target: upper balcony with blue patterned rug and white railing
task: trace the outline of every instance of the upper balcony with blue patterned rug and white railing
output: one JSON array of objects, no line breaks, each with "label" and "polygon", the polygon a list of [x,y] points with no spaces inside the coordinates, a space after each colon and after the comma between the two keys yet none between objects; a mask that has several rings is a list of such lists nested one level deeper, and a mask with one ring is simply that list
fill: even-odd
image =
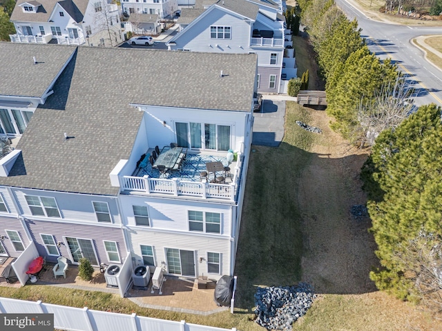
[{"label": "upper balcony with blue patterned rug and white railing", "polygon": [[[204,171],[205,161],[222,161],[229,166],[230,175],[225,176],[224,183],[213,183],[214,175],[200,177]],[[123,194],[148,194],[169,197],[185,197],[187,199],[221,199],[222,201],[236,201],[238,188],[241,182],[243,157],[238,153],[236,161],[227,162],[225,157],[213,155],[188,154],[181,170],[160,174],[157,169],[148,163],[146,168],[137,168],[131,176],[118,176],[119,188]],[[221,174],[221,173],[219,173]],[[213,177],[213,178],[212,178]]]}]

